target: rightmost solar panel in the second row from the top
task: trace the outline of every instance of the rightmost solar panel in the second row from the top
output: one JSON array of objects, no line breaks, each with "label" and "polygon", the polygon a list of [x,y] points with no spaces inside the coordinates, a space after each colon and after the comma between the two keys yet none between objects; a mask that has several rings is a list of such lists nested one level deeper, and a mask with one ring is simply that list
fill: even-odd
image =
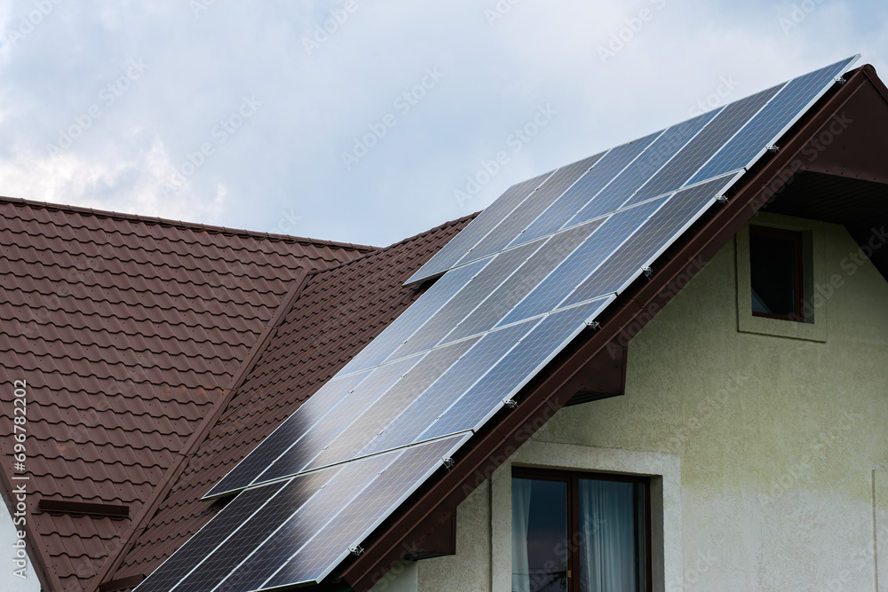
[{"label": "rightmost solar panel in the second row from the top", "polygon": [[614,255],[567,298],[565,305],[613,294],[641,274],[641,268],[668,248],[687,226],[715,203],[715,197],[736,175],[729,174],[674,193],[669,201],[632,235]]}]

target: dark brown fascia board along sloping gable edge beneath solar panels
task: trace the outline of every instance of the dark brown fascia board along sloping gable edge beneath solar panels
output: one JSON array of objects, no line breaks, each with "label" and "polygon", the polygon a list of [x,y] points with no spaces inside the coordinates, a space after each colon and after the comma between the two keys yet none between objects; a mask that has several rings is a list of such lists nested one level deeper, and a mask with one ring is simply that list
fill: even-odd
[{"label": "dark brown fascia board along sloping gable edge beneath solar panels", "polygon": [[865,83],[875,84],[888,99],[888,92],[872,67],[864,66],[847,75],[843,85],[829,91],[781,138],[780,152],[765,154],[740,183],[734,185],[724,206],[716,206],[710,218],[694,225],[686,233],[686,240],[679,241],[661,257],[646,283],[638,283],[612,304],[614,312],[599,330],[583,332],[575,343],[553,359],[527,384],[518,399],[518,407],[503,413],[499,422],[489,422],[480,430],[469,441],[471,449],[458,455],[456,465],[442,472],[437,482],[420,489],[398,516],[375,533],[372,542],[365,546],[365,553],[346,564],[338,575],[356,592],[365,592],[405,555],[403,549],[416,548],[420,541],[404,541],[405,533],[415,533],[418,537],[431,533],[442,513],[446,514],[463,501],[564,406],[575,392],[569,387],[586,362],[609,343],[628,343],[770,199],[777,188],[772,184],[785,183],[787,177],[781,173],[791,170],[808,141]]}]

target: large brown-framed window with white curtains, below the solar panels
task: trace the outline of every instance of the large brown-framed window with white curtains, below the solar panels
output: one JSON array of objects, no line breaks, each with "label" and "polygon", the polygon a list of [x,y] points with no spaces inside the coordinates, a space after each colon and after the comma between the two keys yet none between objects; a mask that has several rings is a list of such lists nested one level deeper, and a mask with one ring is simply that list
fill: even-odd
[{"label": "large brown-framed window with white curtains, below the solar panels", "polygon": [[649,480],[513,469],[512,592],[651,589]]}]

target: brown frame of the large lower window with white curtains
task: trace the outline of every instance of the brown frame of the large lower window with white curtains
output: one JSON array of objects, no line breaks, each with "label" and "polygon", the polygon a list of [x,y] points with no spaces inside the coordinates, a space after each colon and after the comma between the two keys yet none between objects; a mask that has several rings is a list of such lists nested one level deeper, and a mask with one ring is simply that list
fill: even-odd
[{"label": "brown frame of the large lower window with white curtains", "polygon": [[[596,473],[579,470],[533,469],[526,467],[512,467],[511,478],[541,479],[547,481],[559,481],[567,483],[567,522],[569,532],[567,540],[573,541],[575,534],[580,532],[580,479],[599,479],[602,481],[621,481],[623,483],[638,483],[643,486],[645,492],[645,592],[654,590],[654,560],[651,545],[651,479],[642,475],[627,475],[622,473]],[[567,592],[581,592],[580,578],[578,574],[580,566],[580,546],[569,545],[567,553]]]}]

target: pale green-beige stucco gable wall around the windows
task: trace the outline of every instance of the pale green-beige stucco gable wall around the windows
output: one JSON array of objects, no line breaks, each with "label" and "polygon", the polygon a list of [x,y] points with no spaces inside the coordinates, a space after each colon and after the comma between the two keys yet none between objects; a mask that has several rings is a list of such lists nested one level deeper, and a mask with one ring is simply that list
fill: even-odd
[{"label": "pale green-beige stucco gable wall around the windows", "polygon": [[[731,241],[630,343],[625,396],[559,411],[512,459],[671,470],[658,588],[865,591],[879,572],[888,590],[888,283],[849,264],[843,227],[820,242],[815,282],[841,280],[819,299],[826,341],[738,331]],[[510,464],[460,505],[457,554],[420,562],[420,590],[509,589]]]}]

